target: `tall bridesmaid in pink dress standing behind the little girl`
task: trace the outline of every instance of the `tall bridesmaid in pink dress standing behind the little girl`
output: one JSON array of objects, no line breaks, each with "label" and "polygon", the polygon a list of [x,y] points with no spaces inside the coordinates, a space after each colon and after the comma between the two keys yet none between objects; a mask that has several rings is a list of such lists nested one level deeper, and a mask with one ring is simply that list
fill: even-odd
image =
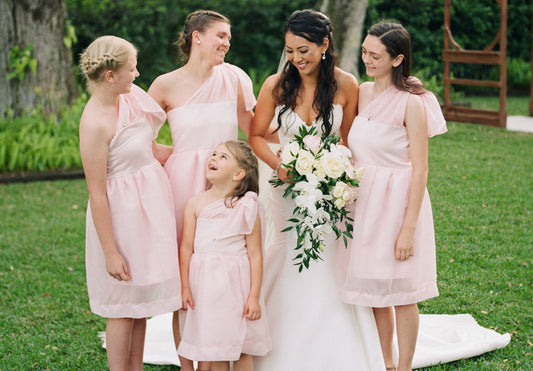
[{"label": "tall bridesmaid in pink dress standing behind the little girl", "polygon": [[[165,163],[174,194],[178,245],[185,204],[207,186],[204,169],[211,151],[237,139],[239,126],[248,135],[253,117],[252,81],[240,68],[224,63],[230,39],[225,16],[206,10],[189,14],[178,41],[187,63],[157,77],[148,90],[167,112],[172,131],[173,147],[157,145],[155,152]],[[173,333],[177,348],[177,312]],[[181,363],[184,371],[192,370],[191,363],[181,362],[186,362]]]}]

